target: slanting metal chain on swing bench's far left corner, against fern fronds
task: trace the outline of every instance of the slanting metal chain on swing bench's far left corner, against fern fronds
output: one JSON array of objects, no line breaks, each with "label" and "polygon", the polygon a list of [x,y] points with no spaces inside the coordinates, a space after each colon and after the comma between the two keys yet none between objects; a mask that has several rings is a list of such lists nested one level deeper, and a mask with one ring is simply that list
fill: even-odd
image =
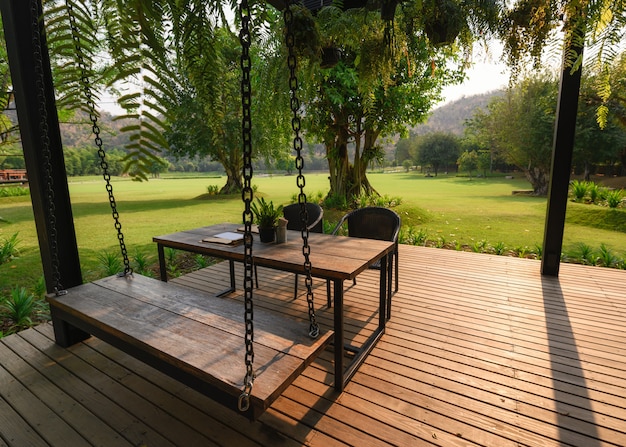
[{"label": "slanting metal chain on swing bench's far left corner, against fern fronds", "polygon": [[102,169],[102,177],[106,182],[106,190],[109,195],[109,204],[111,205],[111,215],[115,222],[115,229],[117,230],[117,240],[120,245],[120,252],[124,260],[124,271],[120,273],[120,276],[132,275],[133,269],[130,266],[130,260],[128,259],[128,250],[126,249],[126,242],[124,241],[124,233],[122,233],[122,224],[120,222],[120,215],[117,211],[117,202],[113,195],[113,185],[111,184],[111,174],[109,173],[109,164],[106,160],[106,152],[102,148],[102,138],[100,138],[100,126],[98,126],[98,112],[96,112],[96,103],[93,99],[93,93],[91,90],[91,83],[89,81],[89,70],[85,63],[85,53],[80,43],[80,35],[78,26],[76,25],[76,17],[74,16],[74,8],[70,1],[65,2],[67,8],[67,15],[70,21],[70,28],[72,30],[72,40],[74,41],[74,50],[76,52],[76,63],[80,69],[81,84],[83,87],[83,94],[87,101],[87,107],[89,108],[89,120],[91,121],[91,131],[94,135],[94,142],[98,148],[98,157],[100,158],[100,168]]}]

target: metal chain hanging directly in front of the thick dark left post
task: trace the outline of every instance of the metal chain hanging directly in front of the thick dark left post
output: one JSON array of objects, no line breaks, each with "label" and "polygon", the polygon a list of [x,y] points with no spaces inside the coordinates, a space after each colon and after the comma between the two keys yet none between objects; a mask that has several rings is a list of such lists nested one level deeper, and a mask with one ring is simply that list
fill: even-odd
[{"label": "metal chain hanging directly in front of the thick dark left post", "polygon": [[52,257],[52,285],[57,296],[67,294],[61,285],[61,263],[59,261],[59,242],[56,227],[56,205],[54,195],[54,179],[52,177],[52,151],[50,149],[50,135],[48,134],[48,111],[46,107],[46,88],[43,73],[43,49],[41,47],[39,1],[31,0],[30,13],[32,17],[33,57],[35,59],[35,85],[39,100],[39,130],[41,137],[41,153],[43,156],[43,170],[46,178],[46,198],[48,200],[48,234],[50,237],[50,256]]}]

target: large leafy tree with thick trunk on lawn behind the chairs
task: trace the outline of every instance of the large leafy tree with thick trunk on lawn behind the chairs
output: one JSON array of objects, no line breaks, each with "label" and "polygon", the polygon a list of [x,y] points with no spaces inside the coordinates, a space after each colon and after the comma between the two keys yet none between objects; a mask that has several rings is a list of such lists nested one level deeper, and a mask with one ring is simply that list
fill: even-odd
[{"label": "large leafy tree with thick trunk on lawn behind the chairs", "polygon": [[[405,134],[407,126],[423,121],[442,87],[462,78],[461,47],[452,43],[468,42],[467,33],[464,40],[456,37],[470,28],[470,11],[455,10],[454,36],[435,42],[425,30],[426,20],[437,14],[431,7],[431,2],[411,4],[399,9],[393,22],[367,10],[342,13],[331,7],[318,13],[321,45],[334,46],[342,55],[336,66],[318,69],[307,79],[305,125],[307,135],[326,147],[330,195],[349,202],[376,194],[366,168],[382,159],[379,138]],[[485,15],[475,16],[476,28],[488,32],[486,19],[478,25]]]}]

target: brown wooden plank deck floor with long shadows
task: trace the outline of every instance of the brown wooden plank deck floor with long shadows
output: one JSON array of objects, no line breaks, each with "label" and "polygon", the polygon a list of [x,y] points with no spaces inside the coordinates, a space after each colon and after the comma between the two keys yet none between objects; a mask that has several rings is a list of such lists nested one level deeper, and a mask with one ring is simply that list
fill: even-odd
[{"label": "brown wooden plank deck floor with long shadows", "polygon": [[[254,423],[99,340],[62,349],[50,325],[6,337],[0,446],[624,446],[626,271],[539,266],[400,246],[388,330],[345,392],[325,352]],[[222,263],[177,282],[215,292],[226,278]],[[292,275],[259,280],[258,306],[305,315]],[[376,282],[346,291],[355,344],[375,324]]]}]

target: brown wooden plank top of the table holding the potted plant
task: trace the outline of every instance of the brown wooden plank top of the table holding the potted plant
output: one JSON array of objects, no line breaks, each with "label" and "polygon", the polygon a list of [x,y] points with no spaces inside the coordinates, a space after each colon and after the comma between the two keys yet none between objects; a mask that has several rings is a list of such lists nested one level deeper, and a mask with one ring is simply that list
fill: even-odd
[{"label": "brown wooden plank top of the table holding the potted plant", "polygon": [[[203,238],[237,231],[241,224],[218,224],[156,236],[153,241],[165,247],[206,254],[243,262],[244,247],[213,242]],[[311,274],[330,280],[354,279],[368,266],[393,250],[394,243],[375,239],[310,233]],[[262,243],[254,235],[252,256],[256,265],[293,273],[304,273],[302,237],[299,231],[288,231],[283,244]]]}]

